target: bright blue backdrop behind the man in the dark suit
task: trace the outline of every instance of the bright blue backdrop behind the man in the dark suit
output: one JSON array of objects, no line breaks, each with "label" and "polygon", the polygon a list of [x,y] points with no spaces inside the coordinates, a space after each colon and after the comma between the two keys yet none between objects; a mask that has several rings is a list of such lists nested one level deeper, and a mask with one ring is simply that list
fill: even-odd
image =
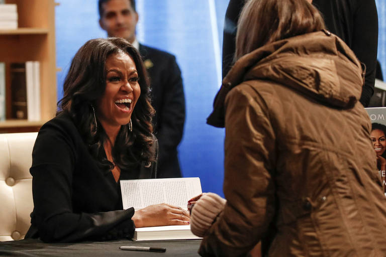
[{"label": "bright blue backdrop behind the man in the dark suit", "polygon": [[[76,51],[104,38],[97,0],[66,0],[56,7],[58,100]],[[206,124],[221,84],[221,48],[229,0],[137,0],[137,38],[174,54],[182,71],[186,122],[179,160],[184,177],[200,177],[204,192],[223,195],[224,130]]]}]

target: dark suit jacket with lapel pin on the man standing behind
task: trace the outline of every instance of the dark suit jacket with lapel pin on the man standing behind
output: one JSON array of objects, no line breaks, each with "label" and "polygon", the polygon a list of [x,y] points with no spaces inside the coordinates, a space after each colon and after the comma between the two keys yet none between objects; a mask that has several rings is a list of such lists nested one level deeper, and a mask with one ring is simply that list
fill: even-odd
[{"label": "dark suit jacket with lapel pin on the man standing behind", "polygon": [[158,139],[157,178],[181,177],[177,146],[185,122],[185,97],[181,71],[175,57],[164,51],[139,45],[150,77],[152,105],[156,111],[154,131]]}]

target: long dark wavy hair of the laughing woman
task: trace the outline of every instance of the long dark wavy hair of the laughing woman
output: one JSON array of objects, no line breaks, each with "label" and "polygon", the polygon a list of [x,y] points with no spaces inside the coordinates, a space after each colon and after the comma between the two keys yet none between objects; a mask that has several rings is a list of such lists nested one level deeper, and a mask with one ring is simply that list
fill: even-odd
[{"label": "long dark wavy hair of the laughing woman", "polygon": [[129,125],[122,125],[114,143],[112,155],[115,164],[121,169],[138,167],[141,163],[152,163],[155,153],[152,145],[154,109],[150,104],[149,82],[145,66],[138,51],[125,39],[108,38],[87,41],[75,54],[65,78],[63,98],[58,102],[59,111],[72,117],[90,154],[102,169],[113,169],[114,164],[107,160],[104,142],[108,140],[102,124],[94,119],[93,107],[104,95],[106,88],[106,60],[112,54],[127,53],[135,62],[141,94],[133,109]]}]

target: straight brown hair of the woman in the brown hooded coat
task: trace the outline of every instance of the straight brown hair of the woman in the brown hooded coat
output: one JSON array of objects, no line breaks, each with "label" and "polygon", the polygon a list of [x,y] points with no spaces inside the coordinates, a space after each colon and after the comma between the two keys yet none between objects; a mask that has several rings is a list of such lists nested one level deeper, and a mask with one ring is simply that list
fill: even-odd
[{"label": "straight brown hair of the woman in the brown hooded coat", "polygon": [[235,60],[265,44],[324,28],[322,16],[306,0],[249,0],[237,25]]}]

